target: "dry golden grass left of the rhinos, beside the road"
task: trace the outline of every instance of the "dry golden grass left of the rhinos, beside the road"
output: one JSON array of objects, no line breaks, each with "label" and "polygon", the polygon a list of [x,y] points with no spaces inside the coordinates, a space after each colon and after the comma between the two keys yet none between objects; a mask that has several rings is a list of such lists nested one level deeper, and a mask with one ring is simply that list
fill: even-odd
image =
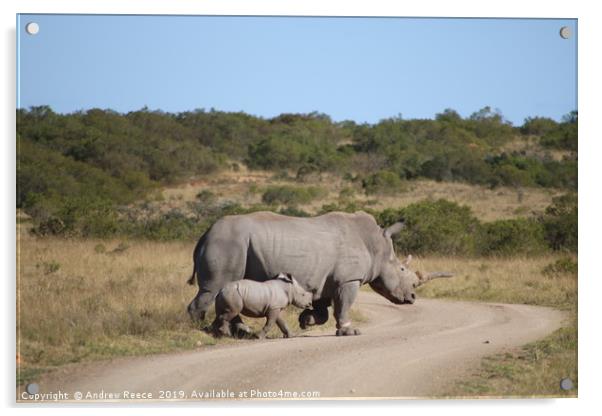
[{"label": "dry golden grass left of the rhinos, beside the road", "polygon": [[[193,243],[39,239],[20,232],[18,383],[66,363],[204,348],[216,340],[190,321]],[[300,310],[285,318],[301,332]],[[204,325],[213,319],[210,310]],[[363,317],[353,311],[355,320]],[[253,330],[264,319],[245,318]],[[334,331],[331,319],[320,327]],[[268,337],[282,336],[274,327]]]}]

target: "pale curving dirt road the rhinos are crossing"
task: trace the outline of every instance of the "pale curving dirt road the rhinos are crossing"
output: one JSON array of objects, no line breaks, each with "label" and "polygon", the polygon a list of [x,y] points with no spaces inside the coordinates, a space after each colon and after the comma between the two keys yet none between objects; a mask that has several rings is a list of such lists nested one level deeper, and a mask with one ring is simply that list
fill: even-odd
[{"label": "pale curving dirt road the rhinos are crossing", "polygon": [[396,306],[368,292],[358,303],[370,320],[358,325],[361,336],[314,330],[291,339],[117,359],[51,375],[40,388],[60,389],[70,399],[75,391],[84,398],[104,394],[96,397],[105,400],[109,393],[123,398],[125,391],[196,400],[281,390],[318,392],[320,398],[425,397],[440,394],[479,358],[542,338],[563,320],[560,311],[526,305],[419,299]]}]

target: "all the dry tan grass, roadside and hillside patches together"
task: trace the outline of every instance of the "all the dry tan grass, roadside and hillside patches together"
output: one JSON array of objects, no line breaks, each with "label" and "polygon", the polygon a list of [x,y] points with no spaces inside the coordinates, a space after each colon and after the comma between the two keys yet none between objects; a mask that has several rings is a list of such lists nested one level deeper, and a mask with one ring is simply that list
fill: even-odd
[{"label": "all the dry tan grass, roadside and hillside patches together", "polygon": [[[319,203],[302,208],[316,212],[319,205],[340,198],[343,182],[321,178],[320,183],[325,182],[329,183],[327,194]],[[251,204],[260,198],[253,190],[268,183],[274,180],[261,171],[231,172],[165,189],[156,203],[173,208],[209,189],[218,198]],[[378,201],[373,205],[404,206],[424,198],[446,198],[469,205],[482,220],[493,220],[541,210],[556,194],[421,180],[408,184],[398,196],[375,198]],[[356,198],[368,199],[365,195]],[[18,384],[71,363],[253,342],[216,340],[190,321],[186,306],[197,289],[188,286],[186,279],[192,271],[194,241],[41,238],[28,232],[26,220],[18,227]],[[416,270],[446,270],[456,275],[424,286],[420,296],[545,305],[566,310],[570,316],[565,328],[544,340],[487,357],[447,394],[576,394],[576,389],[562,392],[558,388],[563,377],[577,381],[577,274],[553,266],[567,261],[576,262],[576,258],[563,254],[414,257]],[[298,312],[291,308],[287,313],[293,332],[300,331]],[[352,317],[365,319],[361,310],[354,310]],[[245,322],[255,329],[263,324],[263,320],[249,318]],[[334,328],[332,319],[328,325]],[[280,336],[277,328],[270,336]]]}]

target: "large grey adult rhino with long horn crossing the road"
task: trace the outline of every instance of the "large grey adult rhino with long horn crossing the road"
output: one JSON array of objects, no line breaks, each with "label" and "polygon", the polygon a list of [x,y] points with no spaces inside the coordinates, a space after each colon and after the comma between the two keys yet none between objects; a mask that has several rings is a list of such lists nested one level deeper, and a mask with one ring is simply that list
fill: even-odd
[{"label": "large grey adult rhino with long horn crossing the road", "polygon": [[422,275],[408,269],[411,256],[400,262],[391,236],[402,223],[382,229],[365,212],[331,212],[296,218],[271,212],[226,216],[199,239],[194,268],[199,292],[188,306],[193,319],[203,320],[219,290],[239,279],[264,281],[291,273],[313,294],[313,309],[299,316],[302,328],[328,320],[334,303],[337,335],[355,335],[349,308],[359,287],[369,284],[396,304],[411,304],[420,284],[449,274]]}]

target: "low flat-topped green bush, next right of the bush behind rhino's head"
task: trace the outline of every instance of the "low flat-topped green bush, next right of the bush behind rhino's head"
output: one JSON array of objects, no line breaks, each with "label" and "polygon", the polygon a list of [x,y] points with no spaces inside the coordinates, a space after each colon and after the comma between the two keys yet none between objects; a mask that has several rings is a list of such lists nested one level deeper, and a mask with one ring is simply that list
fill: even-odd
[{"label": "low flat-topped green bush, next right of the bush behind rhino's head", "polygon": [[478,254],[486,256],[532,255],[548,250],[542,225],[528,218],[485,223],[478,243]]}]

